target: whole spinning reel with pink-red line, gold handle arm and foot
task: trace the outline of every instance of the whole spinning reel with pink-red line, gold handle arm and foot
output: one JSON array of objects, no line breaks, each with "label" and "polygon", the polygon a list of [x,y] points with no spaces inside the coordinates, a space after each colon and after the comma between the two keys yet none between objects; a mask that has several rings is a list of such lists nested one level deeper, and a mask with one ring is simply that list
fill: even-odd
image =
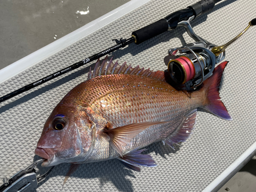
[{"label": "whole spinning reel with pink-red line, gold handle arm and foot", "polygon": [[196,89],[209,78],[215,65],[225,59],[227,46],[241,37],[251,26],[256,25],[256,18],[254,18],[237,37],[222,46],[216,46],[195,34],[190,25],[190,21],[194,17],[191,16],[188,20],[179,22],[178,26],[184,27],[188,35],[196,42],[168,51],[170,56],[176,55],[178,51],[182,54],[178,58],[169,61],[168,71],[173,81],[178,85],[185,85],[187,90]]}]

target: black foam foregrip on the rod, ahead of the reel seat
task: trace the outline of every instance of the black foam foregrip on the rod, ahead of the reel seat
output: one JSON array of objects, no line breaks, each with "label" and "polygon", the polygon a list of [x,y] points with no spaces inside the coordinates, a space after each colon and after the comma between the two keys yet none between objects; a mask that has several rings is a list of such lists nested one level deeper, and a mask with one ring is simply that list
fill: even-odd
[{"label": "black foam foregrip on the rod, ahead of the reel seat", "polygon": [[151,25],[136,30],[132,33],[135,38],[135,43],[140,44],[152,37],[160,35],[161,33],[168,31],[168,22],[166,19],[160,19]]}]

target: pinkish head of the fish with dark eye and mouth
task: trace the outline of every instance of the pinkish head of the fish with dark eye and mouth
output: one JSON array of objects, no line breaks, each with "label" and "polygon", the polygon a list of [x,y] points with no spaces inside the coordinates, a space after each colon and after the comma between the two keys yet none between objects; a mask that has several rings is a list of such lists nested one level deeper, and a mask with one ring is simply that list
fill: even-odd
[{"label": "pinkish head of the fish with dark eye and mouth", "polygon": [[35,154],[46,159],[42,166],[83,161],[94,145],[92,130],[92,122],[79,107],[58,104],[44,125]]}]

